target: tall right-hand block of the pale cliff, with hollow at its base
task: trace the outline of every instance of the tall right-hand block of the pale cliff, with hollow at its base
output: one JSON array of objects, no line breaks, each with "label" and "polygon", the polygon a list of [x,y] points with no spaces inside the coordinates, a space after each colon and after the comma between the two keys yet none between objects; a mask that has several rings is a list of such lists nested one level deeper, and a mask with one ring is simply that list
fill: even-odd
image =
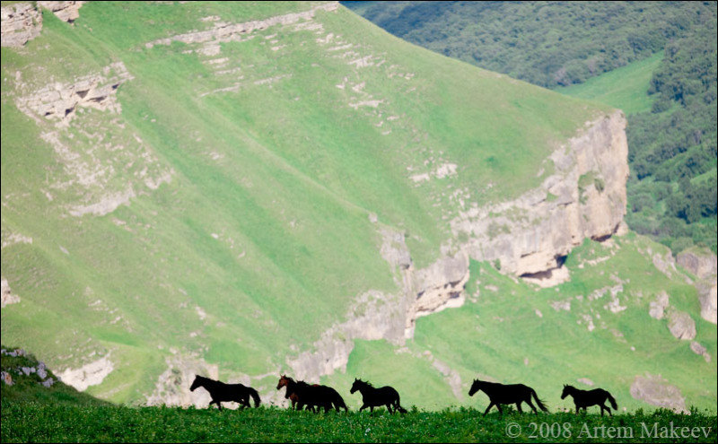
[{"label": "tall right-hand block of the pale cliff, with hollow at its base", "polygon": [[615,234],[626,214],[625,128],[620,111],[592,122],[550,156],[556,173],[541,187],[461,213],[451,230],[468,233],[469,257],[498,260],[502,272],[540,277],[560,267],[583,239]]}]

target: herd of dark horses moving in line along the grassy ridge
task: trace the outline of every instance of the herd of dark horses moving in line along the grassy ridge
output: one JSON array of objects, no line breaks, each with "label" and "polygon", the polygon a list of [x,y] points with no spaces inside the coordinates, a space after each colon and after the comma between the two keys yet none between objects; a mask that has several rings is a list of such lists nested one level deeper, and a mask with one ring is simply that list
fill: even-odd
[{"label": "herd of dark horses moving in line along the grassy ridge", "polygon": [[[250,407],[250,397],[254,400],[255,407],[258,407],[261,402],[257,390],[242,384],[225,384],[221,381],[195,375],[195,380],[192,382],[192,386],[189,387],[189,390],[195,391],[197,387],[204,387],[212,398],[209,405],[215,404],[220,410],[222,410],[223,402],[236,402],[241,405],[241,408]],[[314,413],[319,412],[322,408],[325,412],[328,412],[331,408],[336,409],[337,412],[342,408],[345,412],[349,410],[342,396],[332,387],[309,384],[304,381],[295,381],[285,375],[279,378],[276,389],[279,390],[282,387],[286,388],[285,399],[291,401],[294,410],[306,408]],[[538,414],[536,406],[531,402],[532,398],[536,401],[538,408],[544,412],[548,412],[544,402],[536,395],[536,390],[523,384],[499,384],[474,379],[473,384],[471,384],[471,389],[468,390],[468,396],[474,396],[479,390],[486,393],[486,396],[489,398],[489,405],[486,407],[484,415],[486,415],[494,405],[499,413],[503,414],[501,405],[513,404],[516,405],[516,410],[518,410],[519,413],[523,413],[521,403],[528,404],[533,412]],[[367,381],[355,379],[349,393],[354,394],[356,391],[362,394],[362,406],[359,408],[360,412],[367,407],[369,407],[370,412],[373,412],[374,407],[385,405],[390,414],[397,411],[402,414],[407,413],[407,410],[399,404],[398,392],[394,387],[385,386],[376,388]],[[561,399],[565,399],[566,396],[571,396],[574,399],[576,414],[579,413],[580,409],[586,412],[586,407],[598,405],[600,407],[601,416],[603,416],[604,410],[611,415],[611,410],[606,405],[607,400],[614,410],[618,408],[616,399],[602,388],[580,390],[576,387],[565,385]]]}]

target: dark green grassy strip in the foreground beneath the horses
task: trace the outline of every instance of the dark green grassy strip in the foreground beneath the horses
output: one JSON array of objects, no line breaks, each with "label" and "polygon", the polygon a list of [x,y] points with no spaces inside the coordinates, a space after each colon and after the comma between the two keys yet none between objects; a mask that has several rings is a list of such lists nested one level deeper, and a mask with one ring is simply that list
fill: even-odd
[{"label": "dark green grassy strip in the foreground beneath the horses", "polygon": [[[697,410],[691,415],[660,411],[603,418],[598,414],[483,417],[473,409],[415,410],[395,415],[385,411],[312,414],[263,407],[218,412],[214,408],[81,407],[5,401],[2,408],[3,442],[602,442],[610,438],[606,433],[611,433],[611,428],[614,436],[632,437],[622,442],[716,439],[715,415]],[[513,425],[507,429],[509,424]],[[684,433],[694,431],[698,438],[661,439],[661,431],[671,426]],[[518,436],[507,435],[507,430]]]}]

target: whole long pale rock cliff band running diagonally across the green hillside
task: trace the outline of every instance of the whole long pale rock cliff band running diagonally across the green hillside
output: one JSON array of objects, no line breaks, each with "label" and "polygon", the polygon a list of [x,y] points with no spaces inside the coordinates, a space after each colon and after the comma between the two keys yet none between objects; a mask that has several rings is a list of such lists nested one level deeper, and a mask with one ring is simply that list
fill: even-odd
[{"label": "whole long pale rock cliff band running diagonally across the green hillside", "polygon": [[401,291],[361,295],[346,322],[324,332],[314,350],[289,359],[289,366],[300,379],[318,379],[346,369],[354,339],[402,344],[413,337],[416,318],[463,304],[469,259],[492,261],[503,273],[540,285],[569,279],[562,265],[572,248],[583,239],[605,240],[624,230],[625,128],[620,111],[587,122],[580,135],[544,162],[555,171],[540,187],[460,213],[451,222],[453,236],[442,246],[442,257],[431,266],[415,269],[405,235],[380,228],[381,256]]}]

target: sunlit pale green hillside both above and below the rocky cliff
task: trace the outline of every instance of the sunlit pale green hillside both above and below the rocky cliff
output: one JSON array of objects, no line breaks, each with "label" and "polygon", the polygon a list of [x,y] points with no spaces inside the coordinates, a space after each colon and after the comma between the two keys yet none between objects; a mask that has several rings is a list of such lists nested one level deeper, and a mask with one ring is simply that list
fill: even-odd
[{"label": "sunlit pale green hillside both above and below the rocky cliff", "polygon": [[[79,13],[43,10],[39,37],[2,48],[2,335],[58,375],[111,362],[87,393],[115,403],[211,366],[281,396],[279,372],[361,295],[401,291],[382,231],[403,235],[414,268],[433,264],[465,204],[538,187],[549,154],[615,111],[416,47],[336,4]],[[686,407],[714,409],[715,361],[648,315],[670,292],[715,360],[690,276],[658,271],[666,251],[651,240],[615,245],[587,241],[567,257],[572,280],[543,290],[472,262],[462,307],[419,318],[405,345],[355,341],[346,372],[324,380],[352,407],[359,376],[442,409],[486,405],[466,395],[481,375],[556,407],[569,405],[557,387],[588,378],[634,409],[653,408],[629,394],[650,374]],[[617,282],[626,309],[606,309],[605,292],[588,300]],[[571,311],[553,307],[567,298]]]}]

